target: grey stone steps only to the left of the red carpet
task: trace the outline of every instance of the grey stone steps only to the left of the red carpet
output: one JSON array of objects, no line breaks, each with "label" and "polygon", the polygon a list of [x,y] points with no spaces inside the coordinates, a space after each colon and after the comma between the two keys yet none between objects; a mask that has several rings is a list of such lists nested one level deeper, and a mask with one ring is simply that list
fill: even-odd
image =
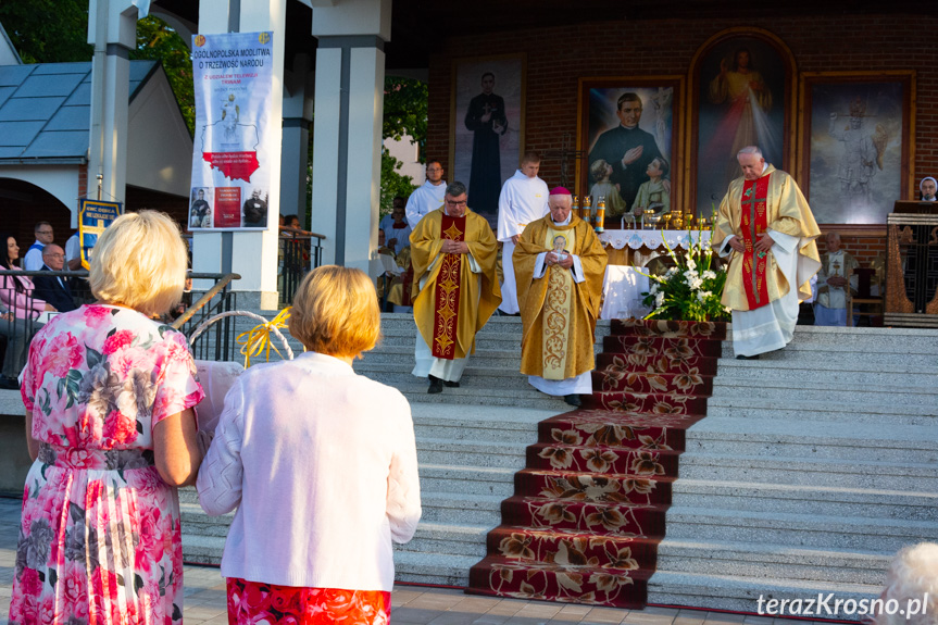
[{"label": "grey stone steps only to the left of the red carpet", "polygon": [[[410,314],[383,314],[382,343],[354,363],[358,373],[400,389],[413,411],[423,517],[413,540],[395,546],[398,580],[468,584],[470,567],[486,554],[486,535],[501,523],[501,502],[514,492],[525,451],[537,440],[537,424],[568,409],[518,373],[521,332],[520,317],[492,317],[476,337],[461,387],[440,395],[428,395],[427,382],[411,375],[416,326]],[[597,349],[608,334],[609,322],[600,322]],[[180,505],[186,561],[220,562],[233,515],[209,517],[193,489],[180,491]]]}]

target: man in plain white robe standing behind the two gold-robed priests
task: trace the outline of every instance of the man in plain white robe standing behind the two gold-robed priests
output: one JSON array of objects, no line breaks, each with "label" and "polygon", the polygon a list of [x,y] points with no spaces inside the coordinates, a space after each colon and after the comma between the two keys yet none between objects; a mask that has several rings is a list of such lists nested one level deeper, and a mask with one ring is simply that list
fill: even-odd
[{"label": "man in plain white robe standing behind the two gold-robed priests", "polygon": [[537,176],[540,154],[525,152],[521,168],[505,180],[498,199],[498,240],[502,242],[501,263],[504,284],[501,287],[499,311],[517,314],[517,285],[514,277],[512,254],[525,226],[550,212],[547,183]]}]

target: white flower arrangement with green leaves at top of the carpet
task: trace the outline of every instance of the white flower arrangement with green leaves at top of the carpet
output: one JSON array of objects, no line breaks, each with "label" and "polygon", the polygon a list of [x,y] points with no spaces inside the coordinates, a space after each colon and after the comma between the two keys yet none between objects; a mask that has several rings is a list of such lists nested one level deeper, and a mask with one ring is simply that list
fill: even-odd
[{"label": "white flower arrangement with green leaves at top of the carpet", "polygon": [[[674,266],[663,276],[647,276],[651,287],[642,303],[653,310],[645,318],[680,321],[728,321],[729,309],[720,303],[726,284],[726,267],[713,268],[717,263],[710,245],[704,243],[700,232],[687,250],[675,252],[664,241]],[[662,234],[662,240],[664,235]]]}]

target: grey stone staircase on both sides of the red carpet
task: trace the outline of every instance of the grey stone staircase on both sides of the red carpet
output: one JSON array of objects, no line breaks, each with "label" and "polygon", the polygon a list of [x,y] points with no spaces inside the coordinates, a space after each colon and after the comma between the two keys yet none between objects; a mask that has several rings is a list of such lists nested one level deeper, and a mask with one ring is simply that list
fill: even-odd
[{"label": "grey stone staircase on both sides of the red carpet", "polygon": [[[383,332],[354,367],[411,401],[424,503],[396,546],[398,579],[465,586],[537,423],[566,405],[517,373],[517,317],[493,317],[461,388],[440,395],[410,373],[411,316],[384,314]],[[608,334],[600,322],[598,347]],[[718,367],[708,417],[687,430],[649,603],[872,597],[899,548],[938,540],[938,332],[799,327],[758,361],[727,341]],[[186,560],[218,562],[227,523],[195,492],[182,500]]]}]

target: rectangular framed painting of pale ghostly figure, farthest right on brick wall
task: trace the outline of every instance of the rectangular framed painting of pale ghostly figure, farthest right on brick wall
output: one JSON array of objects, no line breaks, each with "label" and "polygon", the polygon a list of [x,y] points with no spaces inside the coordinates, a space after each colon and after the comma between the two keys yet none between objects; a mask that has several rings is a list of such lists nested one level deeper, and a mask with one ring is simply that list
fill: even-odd
[{"label": "rectangular framed painting of pale ghostly figure, farthest right on brick wall", "polygon": [[885,224],[910,199],[914,71],[805,72],[799,167],[820,224]]}]

